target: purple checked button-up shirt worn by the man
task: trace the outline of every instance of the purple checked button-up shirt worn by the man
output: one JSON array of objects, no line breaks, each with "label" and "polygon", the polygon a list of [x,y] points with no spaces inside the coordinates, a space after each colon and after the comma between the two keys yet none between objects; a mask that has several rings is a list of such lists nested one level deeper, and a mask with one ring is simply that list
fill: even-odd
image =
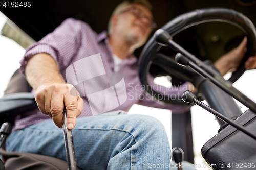
[{"label": "purple checked button-up shirt worn by the man", "polygon": [[[101,55],[105,72],[114,72],[112,48],[108,44],[106,31],[97,34],[87,23],[73,18],[66,19],[52,33],[27,48],[23,59],[20,61],[20,72],[22,72],[24,76],[27,60],[37,53],[50,54],[58,64],[65,81],[66,68],[68,66],[80,59],[83,59],[84,57],[98,53]],[[134,55],[124,59],[117,72],[123,75],[127,91],[127,100],[123,104],[119,105],[119,107],[110,111],[128,111],[133,104],[170,109],[173,113],[182,113],[190,109],[190,107],[157,103],[151,100],[148,96],[145,96],[138,76],[137,58]],[[153,85],[152,76],[149,76],[148,82]],[[155,85],[155,87],[158,92],[165,92],[169,95],[176,97],[179,96],[179,98],[182,92],[187,90],[187,84],[180,86],[179,88],[165,88],[159,85]],[[83,111],[79,117],[92,116],[87,96],[83,96],[82,99],[84,105]],[[51,118],[48,115],[42,114],[39,109],[35,109],[17,116],[14,128],[22,129],[47,119]]]}]

